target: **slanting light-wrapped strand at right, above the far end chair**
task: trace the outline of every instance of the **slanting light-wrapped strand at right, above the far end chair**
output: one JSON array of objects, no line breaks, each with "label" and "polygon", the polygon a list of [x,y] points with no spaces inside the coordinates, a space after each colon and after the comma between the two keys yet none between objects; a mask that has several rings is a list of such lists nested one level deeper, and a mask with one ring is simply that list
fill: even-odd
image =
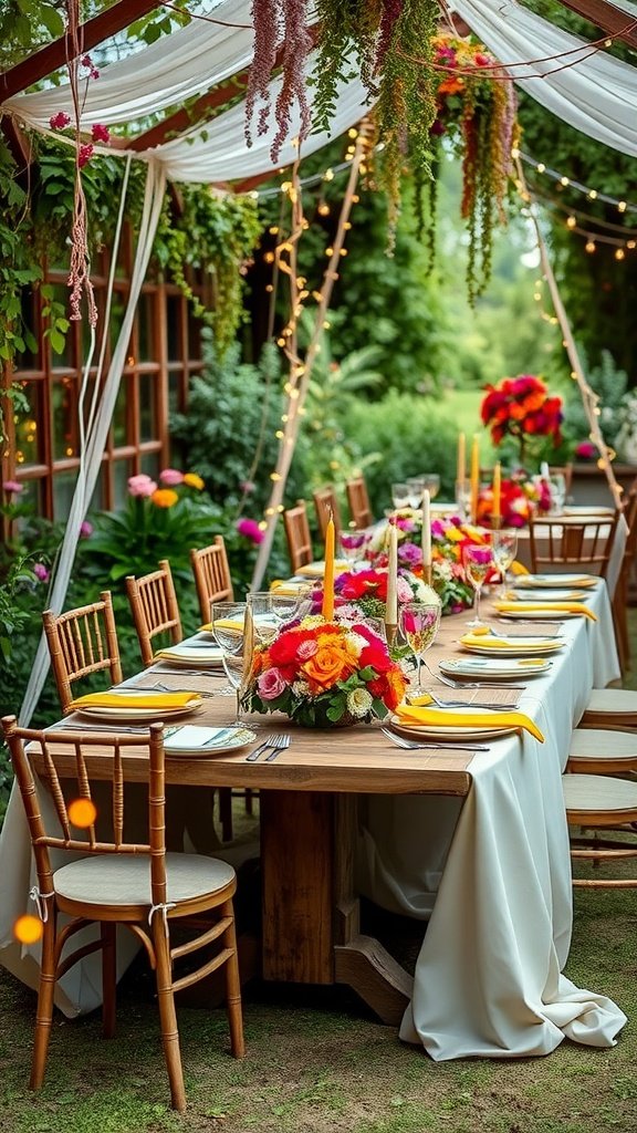
[{"label": "slanting light-wrapped strand at right, above the far end chair", "polygon": [[586,414],[586,418],[588,420],[588,425],[591,428],[589,433],[591,440],[593,441],[593,444],[595,445],[595,448],[600,453],[600,458],[597,460],[597,467],[602,469],[602,471],[606,477],[615,508],[621,509],[622,506],[621,495],[623,489],[621,485],[618,484],[612,468],[612,461],[614,460],[615,453],[612,449],[609,448],[609,445],[604,441],[602,429],[600,428],[600,414],[601,414],[600,397],[597,393],[595,393],[595,390],[593,390],[592,386],[588,384],[584,375],[584,368],[579,359],[579,353],[572,335],[568,315],[564,310],[564,306],[562,304],[562,299],[558,289],[555,275],[551,266],[551,261],[549,258],[546,242],[544,240],[544,237],[542,235],[542,229],[537,220],[537,203],[533,197],[533,195],[530,194],[528,186],[525,181],[524,171],[520,162],[520,154],[517,150],[513,151],[513,161],[516,164],[518,191],[520,194],[521,199],[528,206],[528,212],[533,221],[533,227],[535,229],[535,235],[537,238],[537,247],[540,250],[542,271],[544,272],[544,276],[549,284],[549,291],[551,292],[553,309],[555,312],[558,322],[560,324],[560,330],[562,332],[563,344],[566,347],[566,351],[571,365],[571,377],[575,382],[577,382],[579,392],[581,394],[584,411]]}]

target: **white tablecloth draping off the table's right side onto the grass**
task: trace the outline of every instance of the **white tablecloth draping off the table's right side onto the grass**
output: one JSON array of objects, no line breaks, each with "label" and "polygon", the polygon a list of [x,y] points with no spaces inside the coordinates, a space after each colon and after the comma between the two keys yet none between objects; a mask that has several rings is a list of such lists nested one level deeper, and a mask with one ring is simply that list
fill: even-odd
[{"label": "white tablecloth draping off the table's right side onto the grass", "polygon": [[598,621],[564,621],[568,647],[521,696],[544,743],[521,733],[476,753],[464,801],[367,800],[359,885],[430,920],[400,1037],[436,1060],[549,1054],[567,1037],[612,1046],[626,1023],[562,974],[572,889],[561,772],[591,688],[619,676],[603,583],[591,605]]}]

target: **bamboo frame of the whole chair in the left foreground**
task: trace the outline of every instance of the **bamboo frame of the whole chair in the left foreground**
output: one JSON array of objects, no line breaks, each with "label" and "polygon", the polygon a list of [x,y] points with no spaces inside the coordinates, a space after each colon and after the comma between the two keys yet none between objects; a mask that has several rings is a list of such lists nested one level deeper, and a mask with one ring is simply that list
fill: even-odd
[{"label": "bamboo frame of the whole chair in the left foreground", "polygon": [[[190,888],[187,897],[176,897],[170,886],[170,863],[167,879],[167,854],[165,854],[165,803],[164,803],[164,750],[163,750],[163,725],[152,724],[145,734],[141,735],[113,735],[112,733],[77,734],[75,732],[50,731],[41,732],[32,729],[20,729],[16,724],[14,716],[2,719],[5,736],[11,752],[11,759],[16,772],[23,803],[31,832],[31,841],[35,857],[39,886],[39,905],[42,909],[43,937],[42,937],[42,962],[40,985],[37,993],[37,1011],[35,1020],[35,1036],[33,1048],[33,1062],[29,1087],[37,1090],[42,1085],[46,1067],[49,1051],[49,1039],[51,1034],[53,1016],[53,994],[57,980],[82,956],[90,952],[102,949],[102,983],[103,983],[103,1010],[102,1025],[104,1037],[110,1038],[114,1033],[116,1023],[116,926],[124,925],[144,945],[151,966],[155,973],[158,989],[158,1006],[160,1014],[161,1037],[163,1053],[170,1082],[170,1093],[172,1107],[175,1109],[186,1108],[186,1093],[184,1088],[184,1073],[181,1067],[181,1054],[179,1047],[179,1032],[177,1028],[177,1014],[175,1010],[175,993],[181,988],[189,987],[198,980],[209,976],[218,968],[224,966],[227,1013],[230,1028],[231,1050],[235,1057],[241,1058],[245,1054],[243,1014],[241,1014],[241,991],[239,982],[239,969],[237,961],[237,942],[235,929],[235,915],[232,897],[237,886],[233,871],[228,874],[226,863],[218,862],[224,868],[220,871],[216,884],[213,881],[214,862],[207,871],[207,885],[202,889],[202,881]],[[33,773],[26,744],[31,752],[39,760],[39,777]],[[83,800],[93,800],[91,768],[95,765],[95,756],[99,753],[103,765],[104,751],[110,753],[112,775],[112,813],[109,816],[109,826],[112,824],[112,837],[102,838],[95,823],[86,828],[85,838],[76,837],[73,833],[73,818],[62,791],[62,784],[56,769],[54,749],[63,744],[68,750],[74,750],[75,764],[77,768],[78,796]],[[133,843],[125,837],[125,778],[122,755],[138,753],[144,760],[148,770],[148,807],[147,807],[147,835],[148,841]],[[93,757],[93,758],[92,758]],[[44,785],[45,784],[45,785]],[[56,811],[60,834],[52,834],[46,829],[42,817],[41,794],[48,791]],[[103,821],[107,819],[102,816]],[[78,852],[86,855],[117,855],[113,862],[118,871],[121,871],[122,883],[130,887],[130,871],[128,866],[136,864],[135,860],[139,855],[148,859],[150,888],[152,906],[147,903],[147,887],[139,900],[131,897],[128,893],[121,902],[107,903],[100,900],[100,886],[88,885],[88,878],[82,879],[82,874],[77,874],[86,861],[73,860],[63,870],[75,870],[79,880],[75,883],[75,892],[70,895],[65,893],[65,885],[56,883],[57,870],[53,870],[49,851],[69,851],[76,855]],[[180,857],[180,855],[173,855]],[[181,859],[184,861],[184,859]],[[210,859],[194,858],[190,862],[210,863]],[[119,880],[119,879],[118,879]],[[74,887],[71,886],[71,889]],[[61,891],[61,892],[60,892]],[[86,893],[86,895],[84,895]],[[63,927],[58,925],[58,913],[70,917],[70,922]],[[198,917],[203,914],[214,914],[212,928],[181,944],[171,947],[170,926],[173,920]],[[69,938],[86,925],[97,923],[100,926],[100,938],[93,944],[76,948],[70,955],[61,960],[62,949]],[[150,926],[150,928],[148,928]],[[193,927],[193,921],[190,921]],[[189,955],[211,943],[219,940],[219,951],[213,959],[202,963],[196,971],[189,972],[180,979],[173,979],[172,965],[176,960],[184,955]]]}]

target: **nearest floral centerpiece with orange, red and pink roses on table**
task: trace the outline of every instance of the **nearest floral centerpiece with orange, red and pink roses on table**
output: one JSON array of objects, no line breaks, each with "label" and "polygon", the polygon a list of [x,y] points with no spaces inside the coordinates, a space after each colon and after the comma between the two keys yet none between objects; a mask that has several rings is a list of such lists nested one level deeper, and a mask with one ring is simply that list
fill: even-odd
[{"label": "nearest floral centerpiece with orange, red and pink roses on table", "polygon": [[241,704],[249,712],[282,712],[305,727],[329,727],[387,716],[407,683],[370,625],[311,614],[255,647]]}]

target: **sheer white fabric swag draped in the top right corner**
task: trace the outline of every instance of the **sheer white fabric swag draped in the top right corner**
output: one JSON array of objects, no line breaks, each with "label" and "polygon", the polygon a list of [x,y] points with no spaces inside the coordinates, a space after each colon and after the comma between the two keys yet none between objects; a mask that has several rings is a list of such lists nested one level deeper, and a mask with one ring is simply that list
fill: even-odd
[{"label": "sheer white fabric swag draped in the top right corner", "polygon": [[[584,40],[563,32],[515,0],[453,0],[473,32],[504,66],[516,83],[562,121],[621,153],[637,155],[637,70]],[[629,23],[630,17],[627,17]],[[563,70],[555,68],[566,66]],[[541,78],[526,76],[541,75]]]}]

